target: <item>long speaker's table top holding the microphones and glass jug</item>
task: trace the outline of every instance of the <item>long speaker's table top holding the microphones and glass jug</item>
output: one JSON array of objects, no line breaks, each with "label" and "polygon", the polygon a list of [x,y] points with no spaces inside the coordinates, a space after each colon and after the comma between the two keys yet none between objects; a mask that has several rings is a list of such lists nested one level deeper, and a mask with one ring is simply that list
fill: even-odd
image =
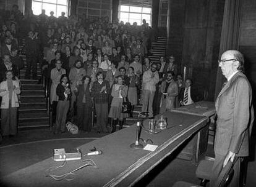
[{"label": "long speaker's table top holding the microphones and glass jug", "polygon": [[[163,115],[168,117],[168,129],[156,134],[142,130],[140,134],[144,140],[151,139],[154,145],[159,145],[155,151],[130,148],[130,144],[135,141],[136,132],[136,125],[132,125],[80,146],[83,154],[90,152],[93,146],[102,150],[103,154],[83,157],[92,159],[98,167],[95,169],[88,166],[78,170],[72,181],[55,181],[45,177],[45,171],[49,167],[62,164],[53,161],[53,157],[6,175],[1,181],[8,186],[130,186],[158,165],[164,157],[173,153],[187,138],[202,129],[207,122],[207,117],[204,116],[173,112]],[[147,128],[148,120],[143,124]],[[82,165],[82,160],[68,161],[65,167],[54,171],[54,174],[61,175]]]}]

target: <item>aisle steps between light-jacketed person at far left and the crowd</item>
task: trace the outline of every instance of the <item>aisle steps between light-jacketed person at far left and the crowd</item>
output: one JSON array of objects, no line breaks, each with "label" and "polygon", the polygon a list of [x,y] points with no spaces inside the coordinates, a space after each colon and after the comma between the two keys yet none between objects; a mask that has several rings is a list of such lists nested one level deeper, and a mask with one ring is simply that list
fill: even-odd
[{"label": "aisle steps between light-jacketed person at far left and the crowd", "polygon": [[47,111],[47,100],[45,98],[45,87],[40,84],[38,79],[41,78],[39,63],[37,64],[37,77],[25,79],[27,60],[25,55],[20,55],[24,60],[25,68],[20,70],[20,107],[19,107],[19,129],[35,129],[49,127],[49,114]]}]

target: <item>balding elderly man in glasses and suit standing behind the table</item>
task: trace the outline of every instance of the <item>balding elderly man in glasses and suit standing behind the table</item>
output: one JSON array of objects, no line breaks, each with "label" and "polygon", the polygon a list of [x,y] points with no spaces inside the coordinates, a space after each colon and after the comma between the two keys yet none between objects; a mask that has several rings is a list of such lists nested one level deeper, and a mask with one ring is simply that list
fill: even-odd
[{"label": "balding elderly man in glasses and suit standing behind the table", "polygon": [[215,186],[218,175],[228,162],[234,164],[231,186],[239,186],[239,167],[243,157],[249,156],[250,133],[254,122],[252,88],[244,70],[244,57],[237,50],[228,50],[219,60],[223,76],[227,79],[218,98],[218,115],[215,136],[215,161],[212,168],[211,186]]}]

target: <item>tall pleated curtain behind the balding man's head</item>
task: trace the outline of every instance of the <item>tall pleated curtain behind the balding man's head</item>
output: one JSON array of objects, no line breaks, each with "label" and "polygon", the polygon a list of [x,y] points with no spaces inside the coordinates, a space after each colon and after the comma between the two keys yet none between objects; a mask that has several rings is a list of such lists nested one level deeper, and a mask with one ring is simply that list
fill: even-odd
[{"label": "tall pleated curtain behind the balding man's head", "polygon": [[[225,52],[226,50],[238,50],[241,16],[240,14],[241,0],[225,1],[219,59],[221,57],[221,54],[223,54],[223,52]],[[215,86],[215,99],[218,97],[224,81],[226,81],[226,78],[224,78],[223,74],[221,73],[220,67],[218,67]]]}]

